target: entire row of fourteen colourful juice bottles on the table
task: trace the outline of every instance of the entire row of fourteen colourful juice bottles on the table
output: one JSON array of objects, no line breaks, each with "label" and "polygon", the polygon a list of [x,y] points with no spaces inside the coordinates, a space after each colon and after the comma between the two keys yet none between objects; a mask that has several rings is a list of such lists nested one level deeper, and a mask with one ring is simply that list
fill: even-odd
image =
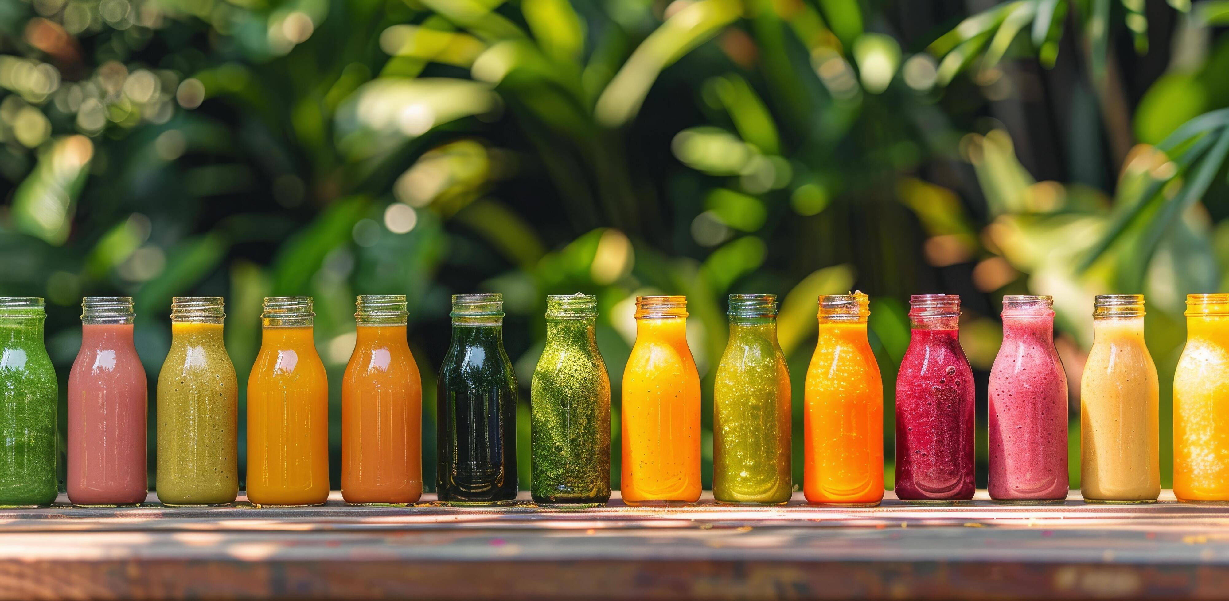
[{"label": "entire row of fourteen colourful juice bottles on the table", "polygon": [[[422,383],[406,339],[406,298],[364,296],[342,383],[342,491],[350,503],[412,503],[423,491]],[[1229,296],[1187,299],[1190,339],[1175,375],[1175,493],[1229,498]],[[868,297],[819,299],[819,342],[804,392],[804,482],[812,503],[882,497],[882,385],[868,342]],[[69,377],[68,493],[82,505],[146,494],[146,378],[129,298],[82,302],[82,345]],[[714,381],[714,497],[777,504],[793,492],[790,381],[777,343],[775,297],[730,297],[730,337]],[[1143,297],[1100,296],[1082,388],[1083,494],[1154,500],[1160,489],[1156,369],[1143,340]],[[268,298],[248,379],[247,494],[312,505],[328,496],[328,386],[310,297]],[[438,386],[439,498],[516,496],[517,383],[503,347],[499,294],[454,297],[452,340]],[[960,298],[911,299],[911,341],[896,385],[896,494],[970,499],[975,392],[959,342]],[[1003,345],[989,375],[989,494],[1067,496],[1067,380],[1050,297],[1003,299]],[[222,345],[222,299],[177,297],[157,381],[157,494],[168,505],[225,504],[238,492],[237,383]],[[603,503],[610,488],[611,386],[596,343],[596,298],[552,296],[531,383],[532,496]],[[55,374],[43,304],[0,299],[0,504],[55,497]],[[699,377],[686,298],[637,299],[637,339],[622,383],[622,496],[629,504],[701,494]]]}]

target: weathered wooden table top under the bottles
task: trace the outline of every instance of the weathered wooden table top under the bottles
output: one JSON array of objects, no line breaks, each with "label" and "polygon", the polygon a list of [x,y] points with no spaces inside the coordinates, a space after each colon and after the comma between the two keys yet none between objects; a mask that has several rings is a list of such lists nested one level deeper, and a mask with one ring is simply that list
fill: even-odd
[{"label": "weathered wooden table top under the bottles", "polygon": [[[64,499],[61,499],[64,500]],[[0,510],[0,599],[1229,596],[1229,504]]]}]

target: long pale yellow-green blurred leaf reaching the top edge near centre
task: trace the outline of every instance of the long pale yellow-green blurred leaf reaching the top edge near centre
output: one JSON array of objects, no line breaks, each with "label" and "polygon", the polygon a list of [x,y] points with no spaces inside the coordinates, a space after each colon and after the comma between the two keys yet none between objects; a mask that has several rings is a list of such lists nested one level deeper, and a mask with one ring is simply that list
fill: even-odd
[{"label": "long pale yellow-green blurred leaf reaching the top edge near centre", "polygon": [[597,98],[594,107],[597,121],[617,128],[635,117],[658,74],[717,34],[739,12],[736,0],[698,0],[667,18],[637,47]]}]

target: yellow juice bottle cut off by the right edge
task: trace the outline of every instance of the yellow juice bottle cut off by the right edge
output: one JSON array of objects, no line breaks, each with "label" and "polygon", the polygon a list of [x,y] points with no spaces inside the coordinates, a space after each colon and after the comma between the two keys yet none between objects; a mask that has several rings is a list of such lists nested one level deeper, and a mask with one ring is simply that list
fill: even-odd
[{"label": "yellow juice bottle cut off by the right edge", "polygon": [[1186,296],[1174,373],[1174,496],[1229,500],[1229,294]]}]

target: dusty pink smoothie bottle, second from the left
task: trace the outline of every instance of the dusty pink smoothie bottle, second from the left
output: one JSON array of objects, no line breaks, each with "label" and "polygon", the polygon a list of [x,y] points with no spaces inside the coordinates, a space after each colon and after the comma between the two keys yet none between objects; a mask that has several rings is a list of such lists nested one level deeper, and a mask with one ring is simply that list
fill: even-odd
[{"label": "dusty pink smoothie bottle, second from the left", "polygon": [[69,374],[69,500],[135,505],[149,486],[147,384],[133,345],[133,299],[86,297],[81,309],[81,351]]}]

